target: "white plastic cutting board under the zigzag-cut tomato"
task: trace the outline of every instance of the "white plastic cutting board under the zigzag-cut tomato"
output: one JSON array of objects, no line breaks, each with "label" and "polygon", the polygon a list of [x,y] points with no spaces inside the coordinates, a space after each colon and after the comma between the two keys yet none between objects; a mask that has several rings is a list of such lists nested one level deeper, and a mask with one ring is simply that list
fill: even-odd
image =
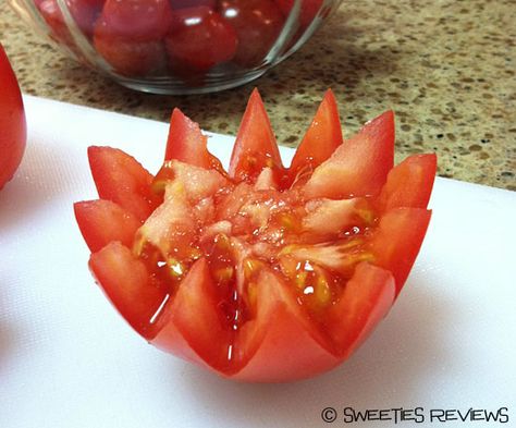
[{"label": "white plastic cutting board under the zigzag-cut tomato", "polygon": [[[418,427],[483,426],[430,424],[432,408],[507,407],[504,426],[516,420],[516,193],[437,180],[413,273],[361,348],[311,380],[236,383],[131,331],[94,284],[73,217],[73,201],[96,197],[88,145],[120,147],[156,171],[168,126],[25,103],[27,151],[0,193],[0,427],[322,427],[328,406],[333,426],[346,425],[344,407],[422,407]],[[228,159],[231,140],[216,135],[210,148]]]}]

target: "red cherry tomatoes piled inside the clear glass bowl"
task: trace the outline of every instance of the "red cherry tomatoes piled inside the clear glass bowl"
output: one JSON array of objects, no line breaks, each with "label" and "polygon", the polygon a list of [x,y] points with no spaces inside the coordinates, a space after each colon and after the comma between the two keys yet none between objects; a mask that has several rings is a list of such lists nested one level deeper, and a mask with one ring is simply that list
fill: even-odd
[{"label": "red cherry tomatoes piled inside the clear glass bowl", "polygon": [[[57,0],[35,3],[52,38],[76,51]],[[66,4],[78,29],[114,72],[128,77],[170,73],[192,77],[221,64],[260,66],[294,0],[66,0]],[[297,36],[321,5],[322,0],[303,0]]]}]

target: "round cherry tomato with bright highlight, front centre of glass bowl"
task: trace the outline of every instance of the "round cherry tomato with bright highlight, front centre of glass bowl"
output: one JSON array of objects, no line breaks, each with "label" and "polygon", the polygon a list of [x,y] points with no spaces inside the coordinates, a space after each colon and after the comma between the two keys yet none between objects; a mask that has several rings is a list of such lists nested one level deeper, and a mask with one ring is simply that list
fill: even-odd
[{"label": "round cherry tomato with bright highlight, front centre of glass bowl", "polygon": [[165,37],[171,66],[207,71],[230,61],[237,46],[236,33],[210,8],[174,11],[172,30]]}]

